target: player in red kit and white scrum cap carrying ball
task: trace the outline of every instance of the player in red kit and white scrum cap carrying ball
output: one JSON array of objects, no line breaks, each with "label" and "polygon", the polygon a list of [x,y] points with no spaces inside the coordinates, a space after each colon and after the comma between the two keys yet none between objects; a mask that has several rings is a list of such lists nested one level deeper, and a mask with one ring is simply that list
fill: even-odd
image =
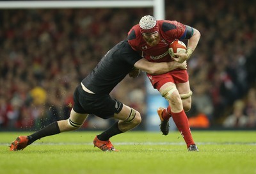
[{"label": "player in red kit and white scrum cap carrying ball", "polygon": [[[134,51],[151,62],[177,61],[183,63],[190,58],[200,40],[200,32],[176,20],[156,20],[150,15],[141,18],[140,23],[131,28],[128,42]],[[175,58],[168,53],[170,43],[174,40],[188,40],[187,51],[175,54]],[[152,86],[168,100],[167,108],[157,110],[161,120],[160,129],[164,135],[169,132],[169,118],[172,116],[177,128],[186,141],[189,151],[198,151],[189,128],[185,111],[191,108],[192,91],[189,86],[187,70],[177,68],[166,74],[147,74]]]}]

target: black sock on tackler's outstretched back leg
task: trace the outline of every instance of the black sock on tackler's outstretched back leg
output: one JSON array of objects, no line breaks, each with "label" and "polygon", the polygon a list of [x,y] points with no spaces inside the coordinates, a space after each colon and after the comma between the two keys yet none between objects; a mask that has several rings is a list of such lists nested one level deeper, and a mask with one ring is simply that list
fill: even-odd
[{"label": "black sock on tackler's outstretched back leg", "polygon": [[54,134],[59,134],[60,128],[58,126],[58,122],[51,123],[41,129],[40,131],[35,132],[34,134],[31,134],[28,136],[28,145],[36,141],[37,139],[43,138],[45,136],[52,136]]}]

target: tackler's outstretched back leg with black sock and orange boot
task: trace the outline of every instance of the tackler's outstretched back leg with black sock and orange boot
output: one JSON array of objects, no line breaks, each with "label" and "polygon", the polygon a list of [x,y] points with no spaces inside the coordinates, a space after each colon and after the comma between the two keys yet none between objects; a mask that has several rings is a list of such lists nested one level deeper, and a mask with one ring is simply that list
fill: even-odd
[{"label": "tackler's outstretched back leg with black sock and orange boot", "polygon": [[22,150],[26,146],[31,145],[31,143],[37,139],[44,138],[45,136],[52,136],[54,134],[59,134],[60,132],[76,130],[83,125],[87,116],[88,114],[79,114],[72,109],[70,118],[67,120],[60,120],[58,122],[51,123],[29,136],[19,136],[11,143],[10,150]]}]

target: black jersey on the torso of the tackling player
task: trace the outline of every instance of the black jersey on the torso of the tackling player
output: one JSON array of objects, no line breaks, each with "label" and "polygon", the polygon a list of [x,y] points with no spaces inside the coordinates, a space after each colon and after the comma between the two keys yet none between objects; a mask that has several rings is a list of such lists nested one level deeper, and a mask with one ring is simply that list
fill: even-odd
[{"label": "black jersey on the torso of the tackling player", "polygon": [[109,94],[140,59],[127,40],[123,40],[108,51],[82,83],[96,94]]}]

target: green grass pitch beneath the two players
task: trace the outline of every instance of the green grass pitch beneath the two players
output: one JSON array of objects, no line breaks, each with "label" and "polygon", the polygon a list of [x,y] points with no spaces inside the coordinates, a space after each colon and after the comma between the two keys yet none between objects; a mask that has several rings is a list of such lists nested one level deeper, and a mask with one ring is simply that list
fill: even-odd
[{"label": "green grass pitch beneath the two players", "polygon": [[134,131],[111,138],[120,152],[93,148],[99,132],[65,132],[9,151],[29,133],[0,132],[1,173],[256,174],[256,131],[193,131],[200,152],[188,152],[179,132]]}]

